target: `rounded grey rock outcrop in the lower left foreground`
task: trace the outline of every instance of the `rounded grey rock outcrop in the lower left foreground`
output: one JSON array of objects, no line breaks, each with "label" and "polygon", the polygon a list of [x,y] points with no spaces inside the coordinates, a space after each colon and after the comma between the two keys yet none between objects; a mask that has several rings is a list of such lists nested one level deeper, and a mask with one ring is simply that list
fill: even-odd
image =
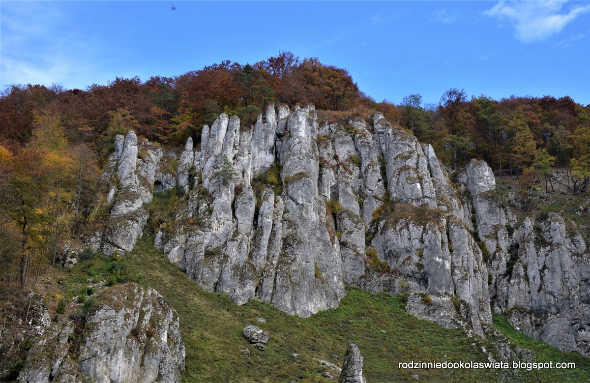
[{"label": "rounded grey rock outcrop in the lower left foreground", "polygon": [[[18,382],[179,382],[185,348],[178,315],[155,290],[104,290],[81,333],[62,319],[34,341]],[[80,339],[77,346],[75,339]],[[77,360],[71,356],[77,354]]]}]

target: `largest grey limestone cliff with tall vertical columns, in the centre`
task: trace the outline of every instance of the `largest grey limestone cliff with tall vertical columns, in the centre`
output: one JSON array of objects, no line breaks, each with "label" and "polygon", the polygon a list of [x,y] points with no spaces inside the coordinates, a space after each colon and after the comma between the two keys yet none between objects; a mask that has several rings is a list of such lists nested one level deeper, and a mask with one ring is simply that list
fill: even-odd
[{"label": "largest grey limestone cliff with tall vertical columns, in the centre", "polygon": [[[200,151],[187,142],[178,179],[188,196],[177,221],[193,224],[157,237],[172,263],[238,304],[258,297],[299,316],[335,307],[345,284],[405,286],[437,297],[416,315],[483,334],[486,265],[430,145],[381,114],[348,128],[320,124],[311,107],[269,107],[265,117],[248,129],[221,114],[204,127]],[[256,180],[268,183],[273,169],[278,187],[260,188]],[[384,203],[420,214],[382,214]],[[387,273],[374,270],[369,248]]]}]

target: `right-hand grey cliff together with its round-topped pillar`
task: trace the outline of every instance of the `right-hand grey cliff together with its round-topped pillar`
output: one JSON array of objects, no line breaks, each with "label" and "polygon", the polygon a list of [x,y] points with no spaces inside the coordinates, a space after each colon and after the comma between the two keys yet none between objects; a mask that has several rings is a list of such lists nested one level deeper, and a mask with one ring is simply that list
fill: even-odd
[{"label": "right-hand grey cliff together with its round-topped pillar", "polygon": [[590,356],[590,258],[573,222],[556,213],[516,217],[494,195],[485,162],[460,177],[470,192],[474,227],[489,254],[491,306],[527,335]]}]

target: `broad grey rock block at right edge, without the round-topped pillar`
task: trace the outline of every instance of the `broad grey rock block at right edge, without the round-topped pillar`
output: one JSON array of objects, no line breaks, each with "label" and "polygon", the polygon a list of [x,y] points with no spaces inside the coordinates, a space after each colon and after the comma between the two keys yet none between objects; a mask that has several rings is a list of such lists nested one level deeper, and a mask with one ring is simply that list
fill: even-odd
[{"label": "broad grey rock block at right edge, without the round-topped pillar", "polygon": [[526,218],[515,233],[506,307],[520,331],[590,356],[590,259],[568,225],[555,213]]}]

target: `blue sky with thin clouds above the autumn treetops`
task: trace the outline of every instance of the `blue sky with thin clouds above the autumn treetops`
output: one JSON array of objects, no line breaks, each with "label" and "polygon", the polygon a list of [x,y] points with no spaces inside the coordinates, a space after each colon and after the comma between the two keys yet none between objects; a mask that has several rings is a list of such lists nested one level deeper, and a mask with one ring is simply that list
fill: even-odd
[{"label": "blue sky with thin clouds above the autumn treetops", "polygon": [[348,69],[377,101],[438,103],[457,87],[590,104],[590,1],[2,0],[0,11],[1,89],[86,89],[291,51]]}]

